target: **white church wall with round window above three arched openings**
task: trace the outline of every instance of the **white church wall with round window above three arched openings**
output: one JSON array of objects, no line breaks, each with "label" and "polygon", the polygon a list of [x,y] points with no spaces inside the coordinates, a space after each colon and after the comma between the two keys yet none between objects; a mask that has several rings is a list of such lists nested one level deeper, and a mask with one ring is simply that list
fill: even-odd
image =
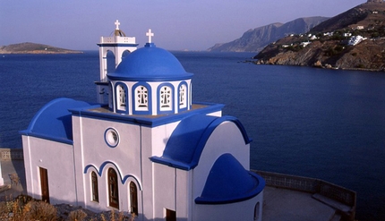
[{"label": "white church wall with round window above three arched openings", "polygon": [[[119,135],[116,147],[107,145],[105,133],[114,129]],[[77,173],[82,183],[79,190],[85,208],[93,210],[112,209],[108,205],[108,168],[114,168],[119,180],[119,210],[130,210],[130,182],[138,188],[138,203],[141,202],[141,128],[133,123],[99,120],[73,116],[73,132]],[[76,134],[77,133],[77,134]],[[75,135],[76,134],[76,135]],[[88,168],[84,174],[84,169]],[[99,202],[91,199],[90,174],[98,175]],[[81,194],[82,192],[82,194]],[[140,206],[139,209],[142,209]],[[142,211],[140,211],[142,214]]]}]

